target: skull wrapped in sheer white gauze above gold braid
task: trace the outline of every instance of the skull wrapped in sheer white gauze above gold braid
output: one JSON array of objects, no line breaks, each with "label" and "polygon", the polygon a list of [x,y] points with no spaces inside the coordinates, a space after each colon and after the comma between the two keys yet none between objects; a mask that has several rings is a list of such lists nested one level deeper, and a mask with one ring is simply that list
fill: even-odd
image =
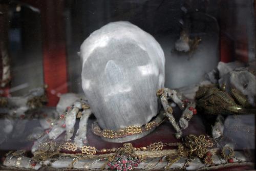
[{"label": "skull wrapped in sheer white gauze above gold braid", "polygon": [[158,113],[164,53],[153,36],[129,22],[93,32],[80,48],[82,88],[102,129],[142,126]]}]

